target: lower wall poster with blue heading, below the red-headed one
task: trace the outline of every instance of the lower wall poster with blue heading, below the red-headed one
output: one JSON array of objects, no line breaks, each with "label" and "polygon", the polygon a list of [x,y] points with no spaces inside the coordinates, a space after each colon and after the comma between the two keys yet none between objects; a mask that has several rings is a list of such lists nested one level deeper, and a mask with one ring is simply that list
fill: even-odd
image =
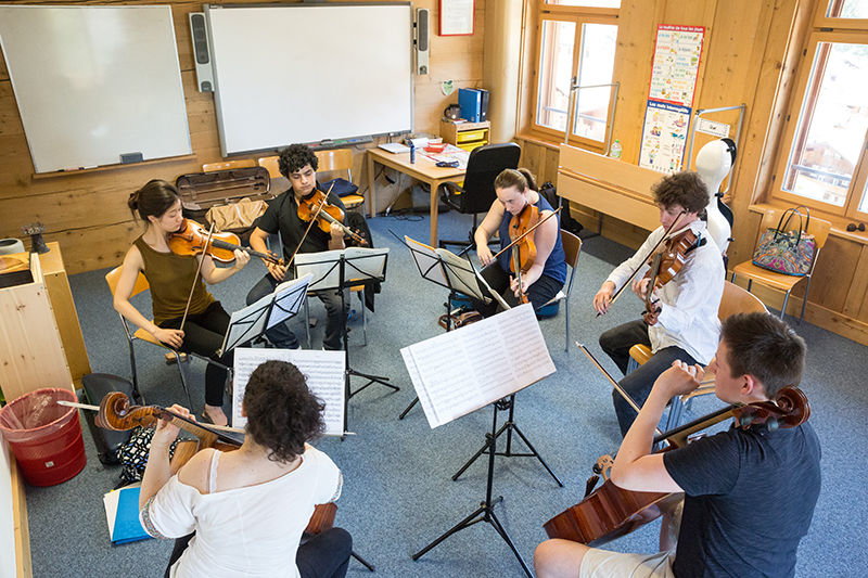
[{"label": "lower wall poster with blue heading, below the red-headed one", "polygon": [[639,166],[667,175],[681,170],[689,126],[687,106],[648,101]]}]

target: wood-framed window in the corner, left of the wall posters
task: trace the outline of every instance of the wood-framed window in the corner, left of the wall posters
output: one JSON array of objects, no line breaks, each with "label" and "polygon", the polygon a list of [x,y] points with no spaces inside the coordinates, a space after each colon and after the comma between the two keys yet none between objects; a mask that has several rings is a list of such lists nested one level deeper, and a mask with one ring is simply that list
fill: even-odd
[{"label": "wood-framed window in the corner, left of the wall posters", "polygon": [[533,128],[562,141],[574,91],[570,141],[600,150],[610,123],[621,0],[539,2]]}]

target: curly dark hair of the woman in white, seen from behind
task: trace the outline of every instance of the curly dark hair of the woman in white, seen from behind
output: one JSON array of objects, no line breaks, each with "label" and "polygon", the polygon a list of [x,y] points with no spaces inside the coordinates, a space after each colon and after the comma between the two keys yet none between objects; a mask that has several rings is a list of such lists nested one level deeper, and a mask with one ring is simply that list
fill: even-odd
[{"label": "curly dark hair of the woman in white, seen from behind", "polygon": [[247,435],[268,448],[268,459],[275,462],[291,462],[304,453],[305,441],[322,434],[324,408],[298,368],[285,361],[256,368],[244,391]]}]

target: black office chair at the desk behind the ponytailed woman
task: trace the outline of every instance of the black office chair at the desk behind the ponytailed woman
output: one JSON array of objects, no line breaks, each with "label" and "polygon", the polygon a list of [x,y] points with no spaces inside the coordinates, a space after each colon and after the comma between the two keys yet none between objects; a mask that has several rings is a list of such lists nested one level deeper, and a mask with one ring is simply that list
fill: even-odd
[{"label": "black office chair at the desk behind the ponytailed woman", "polygon": [[473,215],[473,228],[467,241],[442,240],[441,247],[446,245],[461,245],[467,253],[473,246],[473,233],[476,231],[476,216],[486,213],[495,202],[495,178],[505,168],[518,168],[522,147],[514,142],[503,144],[486,144],[474,149],[468,159],[468,169],[464,174],[464,184],[457,182],[443,183],[443,202],[464,215]]}]

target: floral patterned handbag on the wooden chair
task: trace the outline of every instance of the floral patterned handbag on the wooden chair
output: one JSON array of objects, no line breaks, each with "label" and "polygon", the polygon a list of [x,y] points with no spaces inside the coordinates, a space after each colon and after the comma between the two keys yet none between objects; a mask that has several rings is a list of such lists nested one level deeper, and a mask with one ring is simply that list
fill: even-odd
[{"label": "floral patterned handbag on the wooden chair", "polygon": [[[803,213],[804,211],[804,213]],[[799,216],[799,228],[787,230],[790,219]],[[763,232],[753,264],[763,269],[786,275],[804,277],[810,272],[810,265],[817,254],[814,235],[807,233],[810,211],[805,206],[788,208],[781,215],[778,226]]]}]

